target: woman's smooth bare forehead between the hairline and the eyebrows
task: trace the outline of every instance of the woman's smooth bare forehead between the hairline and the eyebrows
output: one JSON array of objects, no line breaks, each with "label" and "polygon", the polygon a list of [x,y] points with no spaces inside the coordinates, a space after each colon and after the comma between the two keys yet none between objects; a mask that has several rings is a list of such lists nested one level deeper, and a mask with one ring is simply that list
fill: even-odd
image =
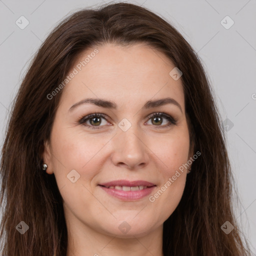
[{"label": "woman's smooth bare forehead between the hairline and the eyebrows", "polygon": [[143,43],[95,46],[76,58],[69,71],[75,69],[76,74],[65,85],[62,97],[67,104],[99,97],[114,100],[118,106],[170,96],[183,108],[181,79],[169,75],[174,67],[165,54]]}]

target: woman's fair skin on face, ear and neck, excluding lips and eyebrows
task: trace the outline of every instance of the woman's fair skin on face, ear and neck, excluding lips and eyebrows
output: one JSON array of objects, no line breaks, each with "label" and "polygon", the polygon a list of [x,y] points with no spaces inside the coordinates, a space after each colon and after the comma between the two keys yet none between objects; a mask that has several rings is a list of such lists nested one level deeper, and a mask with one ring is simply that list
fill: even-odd
[{"label": "woman's fair skin on face, ear and neck, excluding lips and eyebrows", "polygon": [[[63,198],[67,256],[163,256],[163,222],[181,199],[187,169],[154,202],[149,196],[120,200],[98,184],[146,180],[156,185],[153,195],[192,156],[181,79],[172,79],[172,62],[145,44],[123,47],[107,43],[95,48],[99,52],[63,88],[50,139],[44,144],[46,172],[54,173]],[[80,54],[76,64],[93,49]],[[167,96],[175,99],[181,110],[170,103],[142,109],[147,100]],[[86,103],[69,111],[89,97],[114,101],[117,108]],[[108,120],[101,117],[100,125],[93,126],[87,119],[94,130],[79,123],[82,116],[95,112],[105,114]],[[169,123],[165,117],[155,124],[148,118],[155,112],[172,116],[176,124],[165,126]],[[123,118],[131,123],[127,131],[118,126]],[[80,175],[74,183],[67,178],[72,169]],[[126,233],[118,228],[123,221],[130,226]]]}]

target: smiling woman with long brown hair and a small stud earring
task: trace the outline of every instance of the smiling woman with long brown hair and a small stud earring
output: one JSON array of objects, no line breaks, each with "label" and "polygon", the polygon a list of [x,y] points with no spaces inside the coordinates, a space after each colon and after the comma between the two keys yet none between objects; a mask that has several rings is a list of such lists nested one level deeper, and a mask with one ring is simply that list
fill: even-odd
[{"label": "smiling woman with long brown hair and a small stud earring", "polygon": [[46,38],[1,177],[2,255],[249,255],[199,58],[134,4],[77,11]]}]

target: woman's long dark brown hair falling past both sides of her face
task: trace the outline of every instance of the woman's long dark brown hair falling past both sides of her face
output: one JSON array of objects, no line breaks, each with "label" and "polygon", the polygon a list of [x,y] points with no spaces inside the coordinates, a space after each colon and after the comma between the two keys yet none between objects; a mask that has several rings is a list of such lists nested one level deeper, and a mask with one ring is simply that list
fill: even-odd
[{"label": "woman's long dark brown hair falling past both sides of her face", "polygon": [[[62,197],[54,175],[41,170],[43,142],[49,139],[62,90],[51,99],[47,95],[65,79],[82,51],[107,42],[144,42],[165,53],[182,71],[190,139],[201,156],[192,164],[178,206],[163,223],[164,256],[249,255],[234,218],[234,180],[224,131],[199,57],[163,18],[122,2],[66,17],[31,61],[12,105],[2,147],[2,255],[66,255]],[[16,230],[20,221],[29,226],[22,235]],[[229,234],[221,229],[225,221],[234,226]]]}]

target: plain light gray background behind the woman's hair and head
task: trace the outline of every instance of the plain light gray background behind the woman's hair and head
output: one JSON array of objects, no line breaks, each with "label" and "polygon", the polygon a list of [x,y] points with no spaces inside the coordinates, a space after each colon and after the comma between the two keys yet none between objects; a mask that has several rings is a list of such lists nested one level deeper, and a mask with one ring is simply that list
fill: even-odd
[{"label": "plain light gray background behind the woman's hair and head", "polygon": [[[0,148],[8,108],[32,55],[64,16],[101,2],[0,0]],[[214,89],[222,121],[228,118],[227,147],[241,199],[241,206],[235,205],[235,217],[255,253],[256,0],[126,2],[137,3],[163,16],[198,52]],[[21,15],[29,21],[24,29],[15,23]],[[226,15],[234,21],[228,29],[221,24]],[[228,19],[222,22],[230,24]]]}]

